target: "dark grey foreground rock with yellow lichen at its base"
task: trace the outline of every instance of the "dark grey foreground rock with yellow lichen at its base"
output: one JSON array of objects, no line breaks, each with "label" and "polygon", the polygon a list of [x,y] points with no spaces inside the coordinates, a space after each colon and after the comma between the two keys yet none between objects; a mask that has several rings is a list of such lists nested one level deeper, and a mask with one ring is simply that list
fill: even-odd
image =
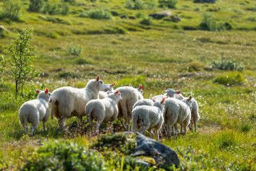
[{"label": "dark grey foreground rock with yellow lichen at its base", "polygon": [[[132,153],[132,157],[137,157],[137,162],[144,166],[159,165],[160,167],[170,167],[179,165],[178,155],[174,150],[166,145],[147,138],[140,133],[137,134],[137,147]],[[146,160],[144,159],[146,157]],[[151,158],[151,160],[149,160]],[[142,162],[143,161],[143,162]],[[148,164],[146,164],[148,163]]]}]

